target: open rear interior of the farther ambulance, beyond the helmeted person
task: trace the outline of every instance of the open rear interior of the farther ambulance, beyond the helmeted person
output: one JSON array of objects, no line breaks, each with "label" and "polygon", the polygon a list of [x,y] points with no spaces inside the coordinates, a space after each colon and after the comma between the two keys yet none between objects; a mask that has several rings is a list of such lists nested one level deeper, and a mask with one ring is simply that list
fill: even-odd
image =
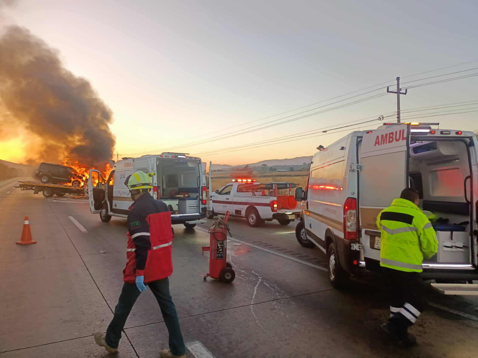
[{"label": "open rear interior of the farther ambulance, beyond the helmeted person", "polygon": [[158,158],[158,199],[172,214],[197,214],[201,196],[200,162],[188,159]]}]

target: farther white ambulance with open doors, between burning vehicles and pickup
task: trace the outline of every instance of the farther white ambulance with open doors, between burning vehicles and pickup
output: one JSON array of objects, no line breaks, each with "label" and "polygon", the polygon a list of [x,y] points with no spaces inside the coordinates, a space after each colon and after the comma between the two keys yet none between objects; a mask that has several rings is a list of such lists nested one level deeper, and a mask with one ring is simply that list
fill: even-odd
[{"label": "farther white ambulance with open doors, between burning vehicles and pickup", "polygon": [[137,170],[154,173],[152,195],[168,205],[173,224],[194,228],[206,217],[206,174],[201,159],[188,154],[162,153],[123,158],[114,164],[108,180],[98,170],[90,169],[90,211],[99,213],[101,221],[128,216],[133,200],[125,180]]}]

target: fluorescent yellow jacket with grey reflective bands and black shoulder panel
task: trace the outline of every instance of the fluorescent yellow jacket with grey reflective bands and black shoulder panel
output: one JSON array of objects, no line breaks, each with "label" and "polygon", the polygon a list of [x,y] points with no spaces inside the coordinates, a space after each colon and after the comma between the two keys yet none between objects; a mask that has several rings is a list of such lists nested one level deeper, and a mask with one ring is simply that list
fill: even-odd
[{"label": "fluorescent yellow jacket with grey reflective bands and black shoulder panel", "polygon": [[422,272],[423,259],[438,249],[432,224],[411,201],[395,199],[377,217],[380,229],[380,266],[407,272]]}]

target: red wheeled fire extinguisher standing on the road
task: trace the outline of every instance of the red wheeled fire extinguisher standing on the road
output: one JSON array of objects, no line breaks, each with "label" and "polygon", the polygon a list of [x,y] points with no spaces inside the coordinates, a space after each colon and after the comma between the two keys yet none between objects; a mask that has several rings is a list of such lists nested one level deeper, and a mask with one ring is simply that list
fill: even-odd
[{"label": "red wheeled fire extinguisher standing on the road", "polygon": [[209,229],[209,246],[203,246],[203,255],[209,251],[209,273],[204,276],[219,279],[222,282],[230,283],[236,278],[236,273],[230,263],[227,262],[227,243],[228,243],[228,218],[229,211],[224,218],[219,216],[214,225]]}]

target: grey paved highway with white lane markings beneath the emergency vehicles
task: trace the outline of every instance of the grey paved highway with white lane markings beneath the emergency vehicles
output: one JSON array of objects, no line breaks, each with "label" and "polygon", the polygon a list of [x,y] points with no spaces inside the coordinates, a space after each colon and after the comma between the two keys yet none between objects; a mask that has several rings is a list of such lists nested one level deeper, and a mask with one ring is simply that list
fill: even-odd
[{"label": "grey paved highway with white lane markings beneath the emergency vehicles", "polygon": [[[125,220],[101,222],[84,199],[2,190],[1,357],[108,357],[93,333],[106,330],[120,294]],[[27,215],[38,243],[16,245]],[[228,241],[236,279],[203,281],[208,257],[201,247],[208,245],[205,231],[211,223],[190,230],[174,226],[171,293],[188,357],[477,356],[473,300],[430,295],[430,302],[444,309],[431,306],[420,317],[412,329],[417,347],[394,347],[377,329],[389,314],[380,280],[333,289],[325,255],[299,246],[294,223],[250,228],[231,219],[232,239],[240,241]],[[124,332],[120,352],[112,357],[158,357],[167,347],[167,331],[149,290],[138,299]]]}]

